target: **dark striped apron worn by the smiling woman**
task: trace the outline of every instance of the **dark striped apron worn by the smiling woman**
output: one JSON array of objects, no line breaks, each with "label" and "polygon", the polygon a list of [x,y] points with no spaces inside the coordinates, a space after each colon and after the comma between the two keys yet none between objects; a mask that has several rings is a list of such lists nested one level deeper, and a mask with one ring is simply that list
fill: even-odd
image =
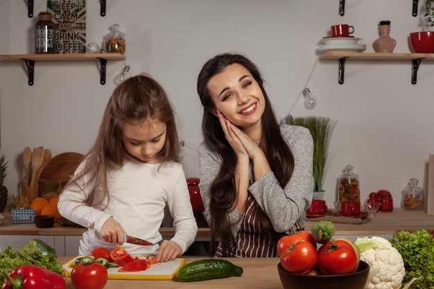
[{"label": "dark striped apron worn by the smiling woman", "polygon": [[[259,222],[257,221],[257,213],[259,206],[256,204],[253,196],[249,193],[247,200],[247,209],[244,213],[240,231],[236,236],[235,252],[231,254],[231,257],[241,258],[268,258],[277,257],[277,247],[272,240],[270,234],[261,233]],[[301,220],[297,220],[294,224],[296,231],[303,230]],[[278,240],[284,233],[277,233],[273,231],[274,239]],[[216,257],[223,257],[223,250],[220,243],[216,250]]]}]

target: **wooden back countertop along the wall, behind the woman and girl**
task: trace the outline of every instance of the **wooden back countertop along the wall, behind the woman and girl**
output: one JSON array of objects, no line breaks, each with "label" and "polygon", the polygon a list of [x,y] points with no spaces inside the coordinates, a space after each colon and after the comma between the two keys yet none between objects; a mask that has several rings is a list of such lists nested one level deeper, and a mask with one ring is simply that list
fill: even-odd
[{"label": "wooden back countertop along the wall, behind the woman and girl", "polygon": [[[40,236],[81,236],[86,229],[67,227],[58,222],[52,228],[40,229],[35,224],[12,224],[10,211],[3,212],[3,224],[0,225],[0,235],[40,235]],[[342,217],[347,218],[347,217]],[[316,220],[306,221],[306,230],[311,229]],[[392,235],[397,231],[415,231],[426,229],[434,231],[434,216],[426,215],[426,211],[406,211],[395,208],[390,213],[379,212],[370,222],[364,224],[347,224],[334,222],[336,235]],[[173,228],[161,228],[162,236],[173,236]],[[198,229],[199,238],[209,238],[209,228]]]}]

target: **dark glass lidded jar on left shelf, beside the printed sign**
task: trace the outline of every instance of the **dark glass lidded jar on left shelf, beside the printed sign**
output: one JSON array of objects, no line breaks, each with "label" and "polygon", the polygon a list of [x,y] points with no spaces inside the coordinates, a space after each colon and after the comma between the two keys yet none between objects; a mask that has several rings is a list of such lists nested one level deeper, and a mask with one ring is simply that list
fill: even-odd
[{"label": "dark glass lidded jar on left shelf, beside the printed sign", "polygon": [[42,11],[37,15],[35,24],[35,53],[55,53],[55,24],[53,15],[48,11]]}]

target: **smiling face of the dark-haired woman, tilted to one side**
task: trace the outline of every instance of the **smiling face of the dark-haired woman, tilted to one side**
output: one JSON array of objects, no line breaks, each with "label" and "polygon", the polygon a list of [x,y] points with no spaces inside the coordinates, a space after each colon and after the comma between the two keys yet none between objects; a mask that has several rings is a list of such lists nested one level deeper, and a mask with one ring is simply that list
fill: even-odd
[{"label": "smiling face of the dark-haired woman, tilted to one side", "polygon": [[239,128],[261,124],[265,98],[261,87],[241,64],[231,64],[208,82],[211,98],[231,123]]}]

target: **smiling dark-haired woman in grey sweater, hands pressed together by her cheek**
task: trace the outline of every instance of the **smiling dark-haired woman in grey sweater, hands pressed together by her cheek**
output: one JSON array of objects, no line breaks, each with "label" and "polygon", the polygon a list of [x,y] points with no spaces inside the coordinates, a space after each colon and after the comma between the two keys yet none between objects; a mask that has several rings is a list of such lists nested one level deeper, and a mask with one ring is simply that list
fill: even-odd
[{"label": "smiling dark-haired woman in grey sweater, hands pressed together by her cheek", "polygon": [[304,229],[311,204],[311,134],[277,123],[259,69],[243,55],[208,60],[198,94],[204,108],[199,186],[218,240],[210,254],[277,256],[277,240]]}]

